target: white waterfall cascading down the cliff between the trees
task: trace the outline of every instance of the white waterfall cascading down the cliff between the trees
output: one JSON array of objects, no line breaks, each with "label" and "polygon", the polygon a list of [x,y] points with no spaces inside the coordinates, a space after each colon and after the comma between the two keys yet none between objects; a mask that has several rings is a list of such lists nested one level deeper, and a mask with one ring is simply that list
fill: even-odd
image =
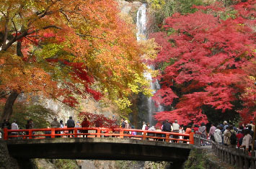
[{"label": "white waterfall cascading down the cliff between the trees", "polygon": [[[146,40],[147,39],[147,34],[146,34],[146,4],[142,4],[139,8],[138,8],[138,12],[137,12],[137,21],[136,21],[136,25],[137,25],[137,40]],[[154,70],[154,66],[151,65],[149,66],[149,68]],[[156,93],[157,90],[159,90],[160,85],[158,83],[158,81],[153,82],[152,81],[152,77],[150,73],[145,73],[144,76],[151,81],[151,89],[153,90],[153,94]],[[148,118],[149,119],[145,119],[148,120],[150,125],[154,124],[154,119],[152,117],[152,115],[155,112],[159,112],[159,111],[164,111],[164,108],[159,105],[159,106],[155,106],[153,99],[150,97],[149,99],[147,99],[147,106],[148,106]]]}]

